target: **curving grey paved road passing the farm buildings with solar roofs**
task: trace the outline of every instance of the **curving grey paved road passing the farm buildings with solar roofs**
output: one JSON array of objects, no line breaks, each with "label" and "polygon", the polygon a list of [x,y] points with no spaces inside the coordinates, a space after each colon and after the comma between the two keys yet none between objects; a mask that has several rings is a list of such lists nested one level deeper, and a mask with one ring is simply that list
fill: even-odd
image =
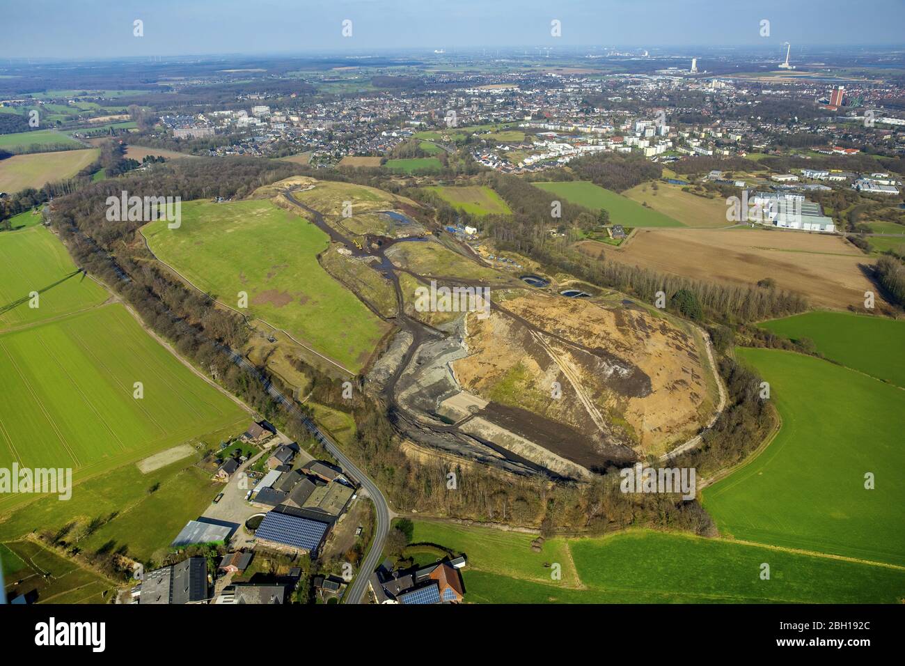
[{"label": "curving grey paved road passing the farm buildings with solar roofs", "polygon": [[[286,398],[286,396],[278,391],[270,381],[262,377],[261,373],[258,372],[257,368],[255,368],[252,363],[226,347],[223,347],[222,349],[230,355],[230,358],[233,359],[233,362],[236,365],[245,372],[252,374],[258,381],[261,381],[264,389],[270,393],[273,400],[281,402],[286,409],[291,410],[300,416],[304,416],[295,402]],[[343,597],[345,603],[361,603],[361,599],[364,597],[365,590],[367,589],[367,577],[377,568],[377,561],[380,559],[380,555],[384,550],[386,535],[389,534],[390,508],[386,502],[386,497],[380,492],[380,488],[376,487],[374,481],[367,478],[367,475],[346,457],[346,454],[342,452],[342,449],[339,449],[335,441],[329,439],[329,437],[318,428],[314,421],[307,417],[304,417],[304,425],[305,428],[310,431],[314,439],[317,439],[323,447],[329,451],[329,454],[337,459],[339,466],[342,468],[346,477],[359,484],[367,493],[367,497],[370,497],[371,501],[374,502],[376,510],[374,538],[371,540],[371,547],[370,550],[367,551],[367,555],[365,555],[364,562],[358,568],[355,579],[352,581],[352,584],[346,588],[346,594]]]}]

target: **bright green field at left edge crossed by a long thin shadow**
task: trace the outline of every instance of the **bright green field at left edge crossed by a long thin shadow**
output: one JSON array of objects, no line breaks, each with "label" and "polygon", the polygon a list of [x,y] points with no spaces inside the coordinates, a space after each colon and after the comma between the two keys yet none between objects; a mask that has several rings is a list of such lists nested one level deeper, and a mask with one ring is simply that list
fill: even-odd
[{"label": "bright green field at left edge crossed by a long thin shadow", "polygon": [[[33,219],[24,215],[21,221]],[[66,248],[43,227],[0,233],[0,278],[0,332],[103,303],[108,295],[77,273]],[[34,308],[32,292],[39,294]]]}]

